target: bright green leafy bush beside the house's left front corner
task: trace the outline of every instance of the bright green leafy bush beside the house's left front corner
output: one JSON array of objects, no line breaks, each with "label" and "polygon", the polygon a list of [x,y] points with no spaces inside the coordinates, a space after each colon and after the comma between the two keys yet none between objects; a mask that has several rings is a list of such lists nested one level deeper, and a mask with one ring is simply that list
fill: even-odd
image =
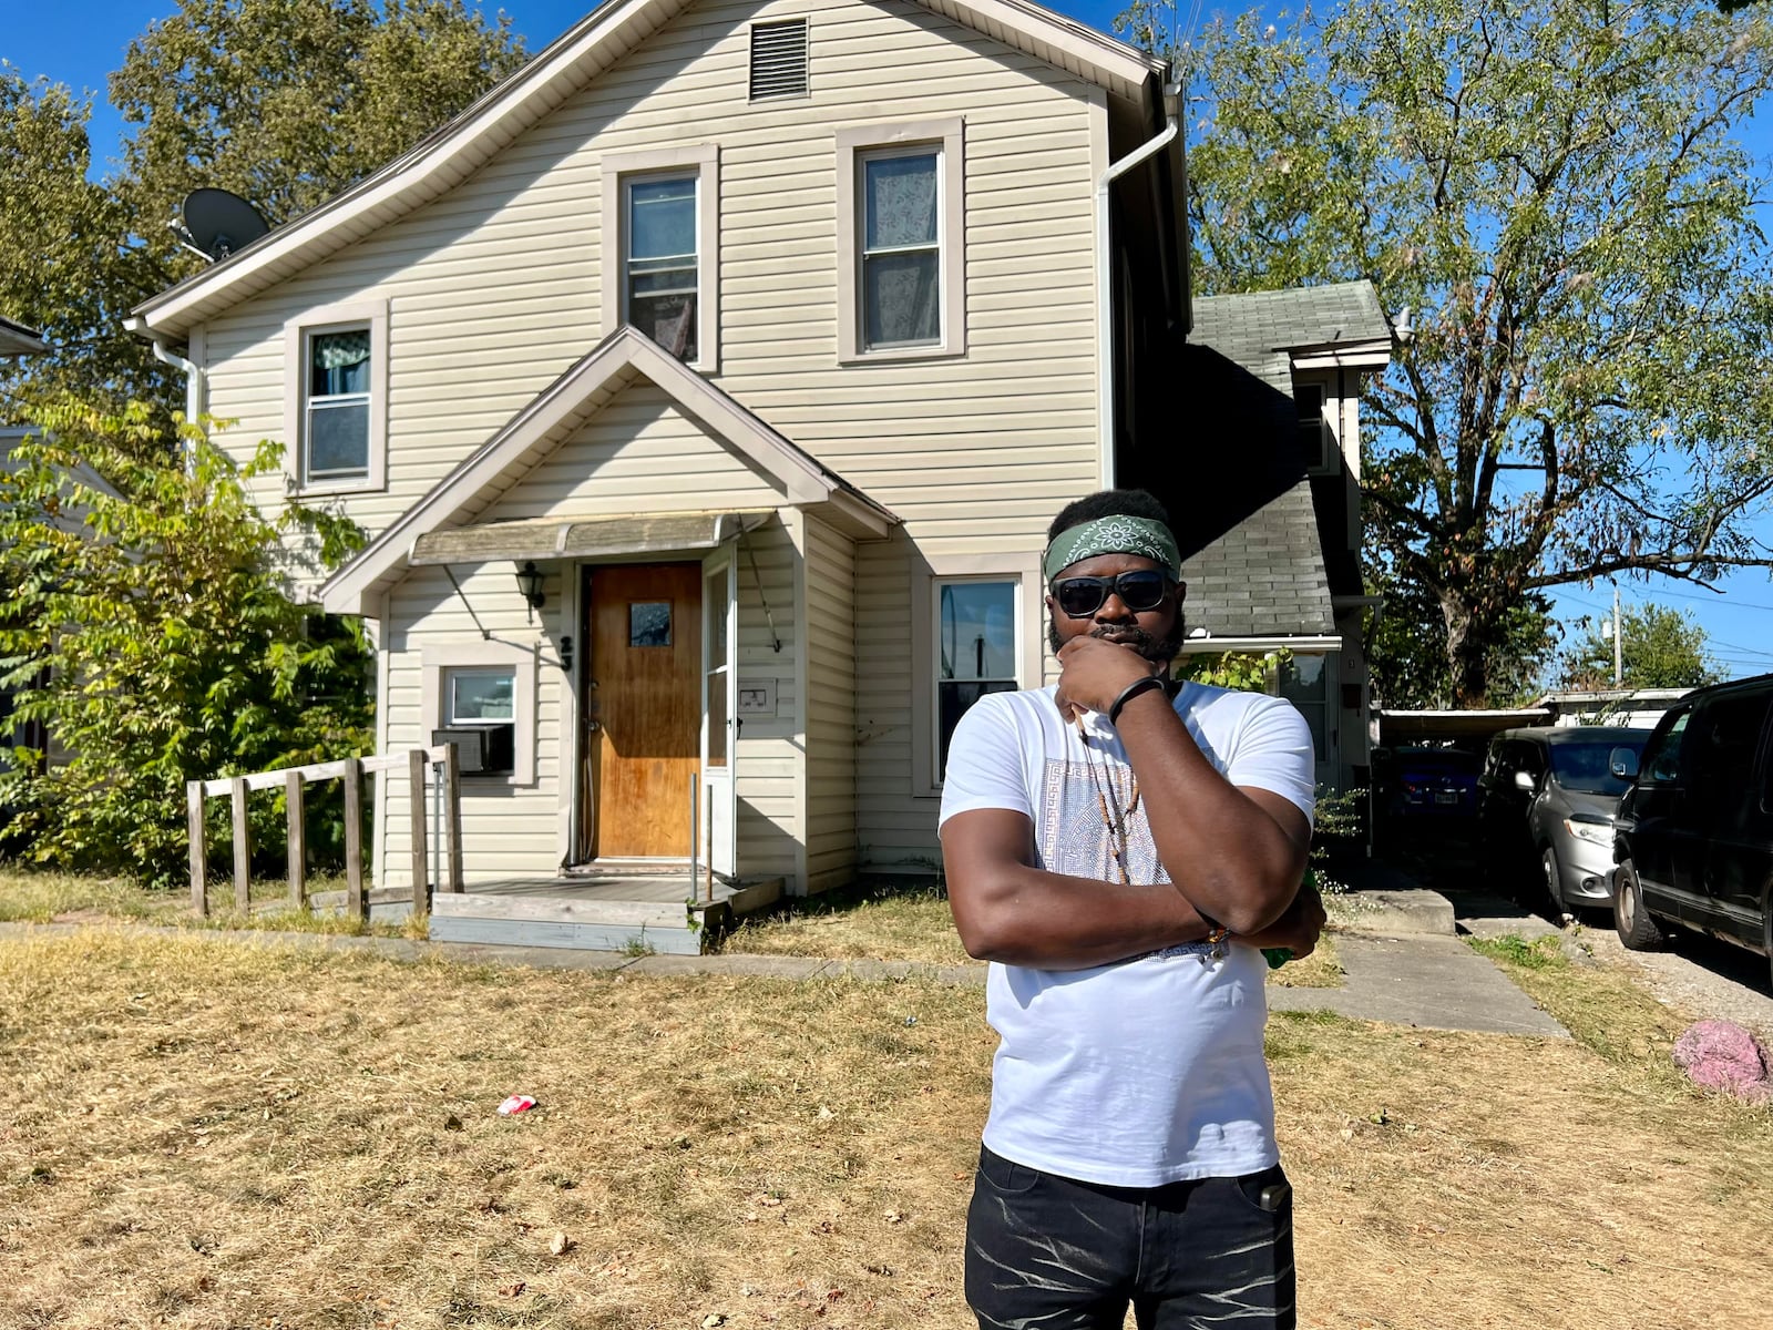
[{"label": "bright green leafy bush beside the house's left front corner", "polygon": [[[291,505],[259,514],[245,481],[280,470],[277,445],[236,466],[188,440],[168,465],[140,403],[117,415],[62,403],[0,473],[0,688],[18,745],[0,768],[0,846],[32,862],[184,872],[184,782],[374,748],[372,661],[355,622],[287,594],[282,528],[317,528],[337,562],[353,527]],[[257,809],[255,841],[278,853],[282,814]],[[339,809],[316,810],[310,844],[342,841]]]}]

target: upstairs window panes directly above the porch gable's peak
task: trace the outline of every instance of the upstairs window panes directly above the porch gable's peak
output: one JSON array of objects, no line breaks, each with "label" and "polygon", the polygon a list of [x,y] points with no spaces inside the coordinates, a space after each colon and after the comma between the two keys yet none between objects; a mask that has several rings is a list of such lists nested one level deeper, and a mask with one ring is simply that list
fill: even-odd
[{"label": "upstairs window panes directly above the porch gable's peak", "polygon": [[679,360],[699,358],[697,177],[622,181],[622,317]]}]

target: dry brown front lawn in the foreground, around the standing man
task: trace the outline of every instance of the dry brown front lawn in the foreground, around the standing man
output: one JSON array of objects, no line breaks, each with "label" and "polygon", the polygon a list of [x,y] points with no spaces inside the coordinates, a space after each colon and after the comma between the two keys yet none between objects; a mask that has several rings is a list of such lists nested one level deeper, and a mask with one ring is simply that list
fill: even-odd
[{"label": "dry brown front lawn in the foreground, around the standing man", "polygon": [[[1745,1325],[1773,1117],[1652,1034],[1277,1016],[1303,1325]],[[920,982],[9,942],[0,1325],[959,1330],[993,1044]]]}]

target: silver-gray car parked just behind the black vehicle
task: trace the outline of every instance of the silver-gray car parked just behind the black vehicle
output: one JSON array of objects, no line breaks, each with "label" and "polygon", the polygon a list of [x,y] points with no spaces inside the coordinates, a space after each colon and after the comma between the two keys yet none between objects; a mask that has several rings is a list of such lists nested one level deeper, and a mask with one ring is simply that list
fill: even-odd
[{"label": "silver-gray car parked just behind the black vehicle", "polygon": [[[1534,871],[1553,915],[1613,899],[1613,812],[1647,729],[1505,729],[1479,777],[1479,841],[1505,872]],[[1624,771],[1626,775],[1617,775]]]}]

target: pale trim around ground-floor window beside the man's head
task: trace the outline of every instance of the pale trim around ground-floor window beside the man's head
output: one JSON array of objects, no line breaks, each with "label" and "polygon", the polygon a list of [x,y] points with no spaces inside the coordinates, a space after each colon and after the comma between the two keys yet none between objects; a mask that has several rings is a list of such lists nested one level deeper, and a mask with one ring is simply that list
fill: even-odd
[{"label": "pale trim around ground-floor window beside the man's head", "polygon": [[1016,686],[1035,688],[1046,642],[1046,598],[1041,582],[1041,555],[934,555],[911,573],[911,794],[940,798],[936,761],[941,745],[936,727],[936,614],[943,582],[1014,582],[1016,583]]}]

